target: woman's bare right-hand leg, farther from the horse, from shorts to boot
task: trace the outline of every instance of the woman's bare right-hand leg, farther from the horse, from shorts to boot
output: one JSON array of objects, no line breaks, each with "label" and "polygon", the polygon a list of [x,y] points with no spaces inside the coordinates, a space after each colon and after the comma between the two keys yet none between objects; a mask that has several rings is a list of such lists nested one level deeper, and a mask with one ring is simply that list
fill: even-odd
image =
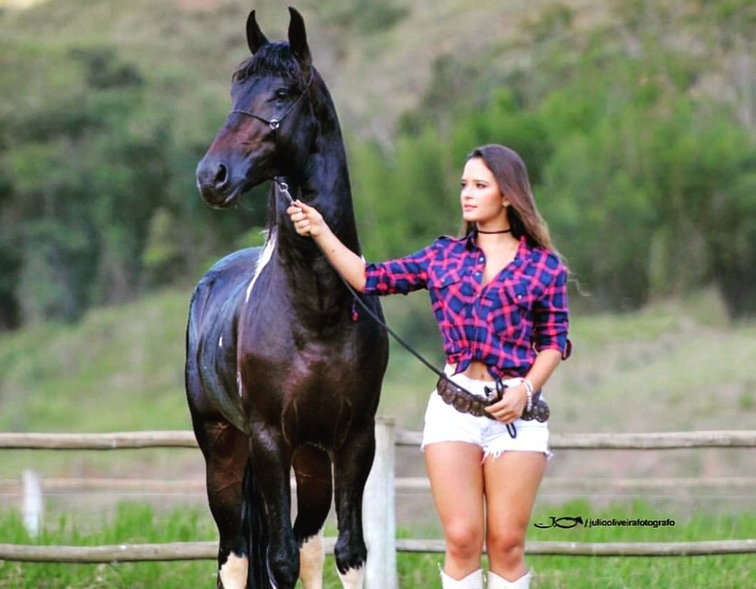
[{"label": "woman's bare right-hand leg, farther from the horse, from shorts to boot", "polygon": [[515,450],[488,456],[483,463],[488,568],[507,581],[527,572],[525,533],[546,464],[543,452]]}]

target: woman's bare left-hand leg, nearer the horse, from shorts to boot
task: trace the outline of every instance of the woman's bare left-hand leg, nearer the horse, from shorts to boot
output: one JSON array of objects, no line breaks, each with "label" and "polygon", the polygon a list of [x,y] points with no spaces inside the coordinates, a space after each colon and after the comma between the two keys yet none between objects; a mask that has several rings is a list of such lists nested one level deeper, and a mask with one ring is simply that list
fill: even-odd
[{"label": "woman's bare left-hand leg, nearer the horse, from shorts to boot", "polygon": [[482,449],[466,442],[425,447],[433,501],[446,539],[444,572],[461,579],[480,569],[483,552]]}]

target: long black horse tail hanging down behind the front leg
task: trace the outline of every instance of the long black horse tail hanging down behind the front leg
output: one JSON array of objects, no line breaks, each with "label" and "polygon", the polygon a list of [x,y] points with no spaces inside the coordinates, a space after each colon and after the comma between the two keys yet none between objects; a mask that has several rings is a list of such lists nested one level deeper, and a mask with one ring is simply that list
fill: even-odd
[{"label": "long black horse tail hanging down behind the front leg", "polygon": [[246,462],[242,479],[241,523],[249,539],[249,572],[247,589],[268,589],[271,575],[268,570],[268,527],[260,504],[255,469],[252,461]]}]

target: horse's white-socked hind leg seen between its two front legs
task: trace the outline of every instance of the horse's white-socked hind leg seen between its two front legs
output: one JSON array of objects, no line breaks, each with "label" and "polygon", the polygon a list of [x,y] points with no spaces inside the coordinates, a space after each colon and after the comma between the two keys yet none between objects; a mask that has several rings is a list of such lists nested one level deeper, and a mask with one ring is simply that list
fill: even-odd
[{"label": "horse's white-socked hind leg seen between its two front legs", "polygon": [[303,589],[322,589],[323,524],[330,510],[333,483],[330,456],[315,446],[303,446],[293,459],[297,514],[294,536],[299,542],[299,578]]}]

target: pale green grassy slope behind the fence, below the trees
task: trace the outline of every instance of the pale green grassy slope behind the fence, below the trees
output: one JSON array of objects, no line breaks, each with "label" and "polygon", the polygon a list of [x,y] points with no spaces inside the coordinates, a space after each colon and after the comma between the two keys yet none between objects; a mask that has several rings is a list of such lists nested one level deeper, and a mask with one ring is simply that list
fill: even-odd
[{"label": "pale green grassy slope behind the fence, below the trees", "polygon": [[[134,304],[89,312],[77,325],[46,324],[0,337],[0,430],[96,432],[188,429],[183,392],[184,324],[191,288],[150,295]],[[437,364],[440,342],[424,293],[388,298],[391,325]],[[749,429],[756,416],[756,323],[727,322],[714,291],[668,301],[634,313],[574,313],[574,356],[547,388],[555,432]],[[435,380],[392,343],[380,414],[400,427],[419,429]],[[716,459],[709,452],[717,452]],[[54,455],[53,455],[54,454]],[[112,457],[76,452],[8,453],[0,477],[18,475],[32,460],[65,473],[92,464],[129,470],[132,459],[147,469],[197,470],[195,451],[125,452]],[[748,468],[738,450],[684,455],[670,467],[663,453],[618,461],[612,453],[584,463],[584,454],[562,452],[556,473],[600,471],[616,476],[664,470],[672,476]],[[622,453],[618,453],[622,454]],[[627,454],[627,453],[624,453]],[[132,458],[128,458],[131,455]],[[163,473],[164,474],[164,473]],[[604,473],[606,474],[606,473]]]}]

